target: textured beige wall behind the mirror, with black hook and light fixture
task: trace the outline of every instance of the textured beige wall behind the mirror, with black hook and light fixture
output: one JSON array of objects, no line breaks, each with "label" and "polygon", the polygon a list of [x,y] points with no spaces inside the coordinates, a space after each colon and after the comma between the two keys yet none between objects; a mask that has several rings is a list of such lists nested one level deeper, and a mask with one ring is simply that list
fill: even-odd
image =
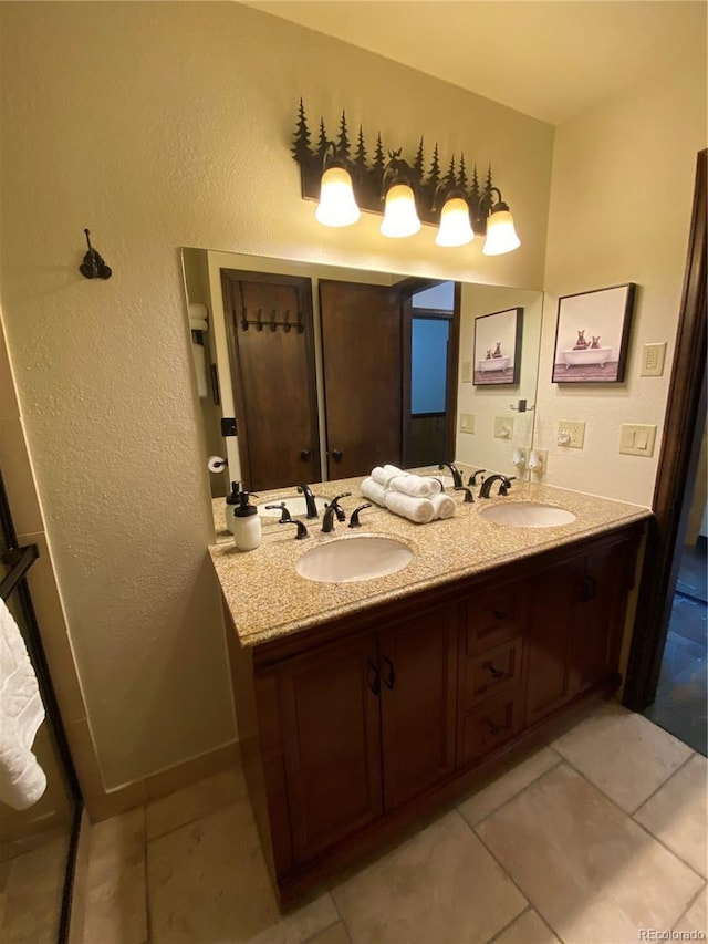
[{"label": "textured beige wall behind the mirror, with black hook and light fixture", "polygon": [[[178,247],[540,288],[553,131],[236,3],[0,4],[0,288],[46,531],[106,787],[235,736]],[[491,160],[523,240],[313,219],[298,95],[331,129]],[[83,229],[113,268],[82,279]],[[248,589],[244,588],[244,592]]]}]

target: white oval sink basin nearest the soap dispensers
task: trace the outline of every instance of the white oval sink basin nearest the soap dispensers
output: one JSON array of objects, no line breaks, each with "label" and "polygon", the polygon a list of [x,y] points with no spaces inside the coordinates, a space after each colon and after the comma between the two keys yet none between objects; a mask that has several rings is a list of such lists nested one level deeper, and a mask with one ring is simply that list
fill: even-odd
[{"label": "white oval sink basin nearest the soap dispensers", "polygon": [[319,544],[300,558],[295,570],[320,583],[352,583],[395,573],[412,560],[413,551],[400,541],[362,535]]}]

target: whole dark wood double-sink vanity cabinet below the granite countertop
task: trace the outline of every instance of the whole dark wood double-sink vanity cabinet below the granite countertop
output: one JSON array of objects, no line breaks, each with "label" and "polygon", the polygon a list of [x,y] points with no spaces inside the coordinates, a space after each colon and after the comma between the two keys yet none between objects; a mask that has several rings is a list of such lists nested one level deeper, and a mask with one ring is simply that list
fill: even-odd
[{"label": "whole dark wood double-sink vanity cabinet below the granite countertop", "polygon": [[282,904],[617,684],[639,535],[529,554],[251,647],[232,634],[244,769]]}]

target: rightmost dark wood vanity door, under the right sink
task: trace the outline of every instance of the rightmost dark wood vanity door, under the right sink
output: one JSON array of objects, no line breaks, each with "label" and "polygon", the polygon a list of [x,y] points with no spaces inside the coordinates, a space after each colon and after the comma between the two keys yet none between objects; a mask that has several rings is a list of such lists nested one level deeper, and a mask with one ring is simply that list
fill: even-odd
[{"label": "rightmost dark wood vanity door, under the right sink", "polygon": [[616,668],[628,590],[629,547],[615,544],[585,559],[573,620],[570,686],[573,695],[606,682]]}]

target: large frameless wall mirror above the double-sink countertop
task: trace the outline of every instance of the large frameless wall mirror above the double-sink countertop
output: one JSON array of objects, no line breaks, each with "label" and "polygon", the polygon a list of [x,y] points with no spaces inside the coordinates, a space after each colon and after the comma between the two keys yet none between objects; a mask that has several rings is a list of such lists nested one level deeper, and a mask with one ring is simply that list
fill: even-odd
[{"label": "large frameless wall mirror above the double-sink countertop", "polygon": [[385,461],[518,474],[541,292],[192,248],[183,266],[205,444],[228,459],[212,497]]}]

